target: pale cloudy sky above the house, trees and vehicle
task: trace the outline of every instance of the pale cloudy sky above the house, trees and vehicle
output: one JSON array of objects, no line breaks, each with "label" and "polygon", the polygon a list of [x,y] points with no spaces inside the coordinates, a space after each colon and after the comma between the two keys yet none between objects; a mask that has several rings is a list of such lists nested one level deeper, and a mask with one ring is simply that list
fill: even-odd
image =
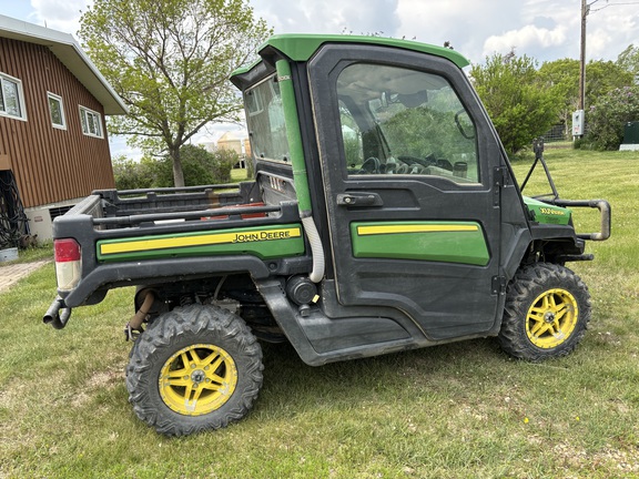
[{"label": "pale cloudy sky above the house, trees and vehicle", "polygon": [[[185,0],[187,1],[187,0]],[[0,14],[67,33],[92,0],[0,0]],[[639,45],[639,0],[587,0],[587,58],[616,60]],[[250,0],[276,33],[381,33],[453,47],[473,63],[515,48],[539,63],[579,58],[581,0]],[[215,125],[203,141],[236,126]],[[201,141],[202,141],[201,140]],[[113,156],[130,154],[112,139]]]}]

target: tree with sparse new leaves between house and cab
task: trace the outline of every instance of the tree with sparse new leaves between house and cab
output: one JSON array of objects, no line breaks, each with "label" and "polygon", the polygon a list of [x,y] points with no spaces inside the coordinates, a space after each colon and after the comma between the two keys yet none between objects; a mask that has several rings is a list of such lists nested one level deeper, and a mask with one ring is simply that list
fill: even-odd
[{"label": "tree with sparse new leaves between house and cab", "polygon": [[237,121],[231,72],[271,30],[244,0],[95,0],[81,18],[83,47],[129,106],[112,134],[166,153],[184,185],[180,151],[210,122]]}]

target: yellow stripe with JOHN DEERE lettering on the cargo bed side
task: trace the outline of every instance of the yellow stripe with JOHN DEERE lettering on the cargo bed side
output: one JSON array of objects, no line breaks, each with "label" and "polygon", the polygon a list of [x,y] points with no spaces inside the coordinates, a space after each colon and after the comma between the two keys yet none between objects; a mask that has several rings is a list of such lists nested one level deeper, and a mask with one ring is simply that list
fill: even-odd
[{"label": "yellow stripe with JOHN DEERE lettering on the cargo bed side", "polygon": [[123,243],[104,243],[100,245],[100,253],[103,255],[118,253],[133,253],[142,251],[168,249],[189,246],[204,246],[230,243],[251,243],[274,240],[287,240],[300,237],[302,231],[298,227],[281,230],[260,230],[235,233],[212,233],[195,236],[178,236],[135,240]]}]

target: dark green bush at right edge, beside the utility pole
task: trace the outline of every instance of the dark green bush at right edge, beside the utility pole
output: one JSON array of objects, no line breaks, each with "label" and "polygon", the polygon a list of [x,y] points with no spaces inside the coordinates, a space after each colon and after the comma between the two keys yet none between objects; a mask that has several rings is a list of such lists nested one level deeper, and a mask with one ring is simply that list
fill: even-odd
[{"label": "dark green bush at right edge, beside the utility pole", "polygon": [[601,96],[586,116],[585,143],[598,150],[618,150],[627,122],[639,121],[639,85],[615,89]]}]

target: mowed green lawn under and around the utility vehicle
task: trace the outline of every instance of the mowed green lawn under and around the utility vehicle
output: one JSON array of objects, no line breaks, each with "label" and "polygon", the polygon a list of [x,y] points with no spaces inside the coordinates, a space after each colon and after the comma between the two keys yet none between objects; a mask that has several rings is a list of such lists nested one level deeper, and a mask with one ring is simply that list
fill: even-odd
[{"label": "mowed green lawn under and around the utility vehicle", "polygon": [[[265,345],[244,420],[170,439],[128,404],[132,291],[54,330],[48,265],[0,293],[0,478],[639,477],[639,153],[546,156],[562,197],[612,204],[612,237],[569,265],[594,305],[572,355],[517,361],[487,338],[312,368]],[[540,173],[529,194],[548,191]],[[598,228],[589,210],[575,222]]]}]

